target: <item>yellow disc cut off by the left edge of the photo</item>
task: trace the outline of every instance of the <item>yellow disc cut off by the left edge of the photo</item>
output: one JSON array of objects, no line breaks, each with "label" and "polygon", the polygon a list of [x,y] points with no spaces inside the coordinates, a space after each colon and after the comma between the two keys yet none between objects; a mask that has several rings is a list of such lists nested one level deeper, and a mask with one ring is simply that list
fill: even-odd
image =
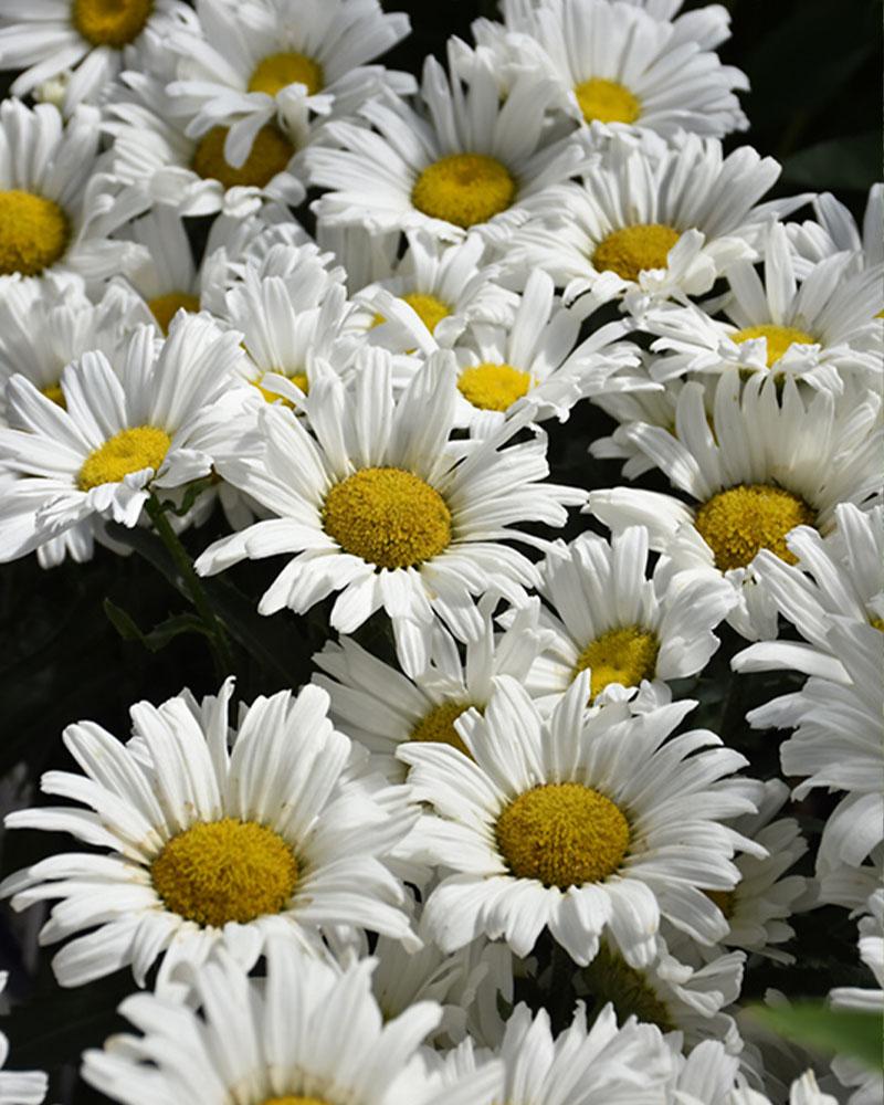
[{"label": "yellow disc cut off by the left edge of the photo", "polygon": [[18,188],[0,191],[0,275],[39,276],[70,239],[67,215],[53,200]]}]

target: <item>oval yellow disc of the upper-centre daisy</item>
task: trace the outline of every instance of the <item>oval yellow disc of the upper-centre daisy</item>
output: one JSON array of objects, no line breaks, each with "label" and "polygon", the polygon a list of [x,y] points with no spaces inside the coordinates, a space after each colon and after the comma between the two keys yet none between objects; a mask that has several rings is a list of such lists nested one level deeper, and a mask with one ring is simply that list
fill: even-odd
[{"label": "oval yellow disc of the upper-centre daisy", "polygon": [[474,227],[501,211],[516,197],[516,181],[503,162],[487,154],[450,154],[418,177],[411,191],[414,207],[455,227]]}]

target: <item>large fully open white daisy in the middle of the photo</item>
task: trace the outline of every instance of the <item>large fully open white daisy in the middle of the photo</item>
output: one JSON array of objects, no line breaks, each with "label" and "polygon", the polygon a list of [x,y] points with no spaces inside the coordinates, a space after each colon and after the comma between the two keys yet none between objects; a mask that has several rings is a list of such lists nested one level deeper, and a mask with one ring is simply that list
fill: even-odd
[{"label": "large fully open white daisy in the middle of the photo", "polygon": [[333,628],[352,633],[383,609],[399,663],[415,675],[429,662],[436,619],[470,641],[484,624],[474,597],[494,590],[516,606],[526,601],[537,569],[504,543],[537,544],[517,527],[561,526],[566,505],[586,493],[541,482],[549,467],[539,431],[505,448],[530,412],[481,443],[450,440],[451,354],[429,361],[399,399],[389,358],[366,350],[351,387],[334,375],[312,387],[308,425],[276,404],[259,412],[263,455],[232,459],[219,471],[274,517],[215,541],[197,570],[214,575],[287,552],[262,613],[303,613],[340,591]]}]

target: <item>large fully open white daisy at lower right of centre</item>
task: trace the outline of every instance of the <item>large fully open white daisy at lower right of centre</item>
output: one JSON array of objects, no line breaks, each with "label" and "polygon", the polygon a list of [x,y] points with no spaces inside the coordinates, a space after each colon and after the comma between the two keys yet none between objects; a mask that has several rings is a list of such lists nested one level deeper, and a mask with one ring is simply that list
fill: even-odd
[{"label": "large fully open white daisy at lower right of centre", "polygon": [[746,760],[705,730],[671,737],[694,703],[630,716],[625,704],[588,713],[588,697],[582,673],[544,719],[498,676],[484,715],[455,722],[469,757],[400,746],[414,798],[434,809],[406,846],[452,872],[421,918],[443,950],[484,934],[524,956],[548,926],[582,966],[603,933],[646,966],[661,917],[705,944],[726,932],[704,891],[736,885],[736,849],[764,854],[722,823],[754,809],[728,779]]}]

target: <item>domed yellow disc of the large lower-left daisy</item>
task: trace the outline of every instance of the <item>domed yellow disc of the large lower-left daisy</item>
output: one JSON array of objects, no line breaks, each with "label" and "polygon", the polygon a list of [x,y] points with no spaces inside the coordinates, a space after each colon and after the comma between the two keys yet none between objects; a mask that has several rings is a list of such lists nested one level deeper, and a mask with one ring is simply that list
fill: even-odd
[{"label": "domed yellow disc of the large lower-left daisy", "polygon": [[166,908],[198,925],[241,925],[285,908],[297,884],[291,845],[255,821],[222,818],[172,836],[150,865]]}]

